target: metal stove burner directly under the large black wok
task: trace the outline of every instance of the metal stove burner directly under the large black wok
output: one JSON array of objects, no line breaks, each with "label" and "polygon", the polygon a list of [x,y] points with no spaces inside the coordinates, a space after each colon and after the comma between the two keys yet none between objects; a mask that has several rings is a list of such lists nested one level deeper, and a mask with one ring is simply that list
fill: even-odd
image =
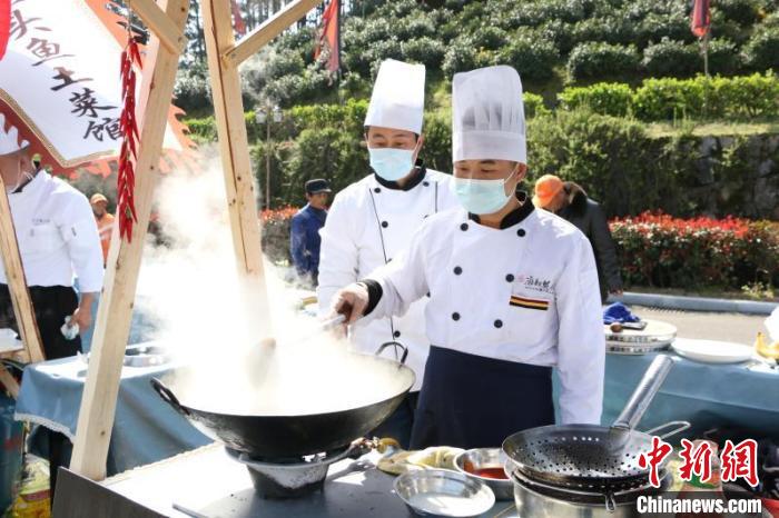
[{"label": "metal stove burner directly under the large black wok", "polygon": [[327,469],[355,451],[358,446],[349,446],[325,454],[280,459],[252,458],[246,454],[225,448],[227,454],[246,466],[252,482],[260,498],[298,498],[323,488]]}]

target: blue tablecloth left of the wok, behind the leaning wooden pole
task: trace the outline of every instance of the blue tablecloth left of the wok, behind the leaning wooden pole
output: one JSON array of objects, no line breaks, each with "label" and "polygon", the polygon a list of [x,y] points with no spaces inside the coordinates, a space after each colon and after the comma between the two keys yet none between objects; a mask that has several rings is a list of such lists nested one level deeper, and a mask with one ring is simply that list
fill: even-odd
[{"label": "blue tablecloth left of the wok, behind the leaning wooden pole", "polygon": [[[171,457],[210,442],[164,402],[149,380],[170,366],[125,367],[109,448],[109,475]],[[45,361],[24,370],[16,419],[76,437],[87,363],[78,357]]]}]

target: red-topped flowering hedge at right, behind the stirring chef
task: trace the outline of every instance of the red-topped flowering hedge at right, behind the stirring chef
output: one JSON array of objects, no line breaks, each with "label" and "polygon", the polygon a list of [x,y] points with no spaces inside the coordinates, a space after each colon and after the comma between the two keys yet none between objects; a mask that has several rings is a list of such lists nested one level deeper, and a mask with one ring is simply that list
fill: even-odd
[{"label": "red-topped flowering hedge at right, behind the stirring chef", "polygon": [[740,289],[779,282],[779,225],[644,212],[611,222],[628,285]]}]

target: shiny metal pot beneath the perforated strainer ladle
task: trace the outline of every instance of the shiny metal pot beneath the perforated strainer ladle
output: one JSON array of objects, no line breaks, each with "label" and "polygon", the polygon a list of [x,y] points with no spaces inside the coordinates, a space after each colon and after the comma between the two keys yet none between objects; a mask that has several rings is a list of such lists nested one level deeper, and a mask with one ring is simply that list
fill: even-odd
[{"label": "shiny metal pot beneath the perforated strainer ladle", "polygon": [[514,502],[522,518],[638,518],[641,516],[635,508],[638,498],[662,494],[671,478],[662,478],[660,488],[645,485],[618,492],[598,492],[533,481],[519,469],[511,474]]}]

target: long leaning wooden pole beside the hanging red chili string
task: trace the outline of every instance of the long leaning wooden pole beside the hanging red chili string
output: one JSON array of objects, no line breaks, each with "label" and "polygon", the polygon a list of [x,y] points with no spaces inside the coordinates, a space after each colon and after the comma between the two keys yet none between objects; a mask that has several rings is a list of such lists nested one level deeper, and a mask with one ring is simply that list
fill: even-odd
[{"label": "long leaning wooden pole beside the hanging red chili string", "polygon": [[[183,30],[189,0],[161,0],[170,21]],[[106,458],[116,412],[122,359],[130,331],[132,303],[146,231],[149,225],[154,189],[157,183],[162,139],[172,96],[179,54],[152,38],[145,63],[137,112],[140,150],[136,165],[136,209],[138,222],[132,242],[119,238],[114,227],[105,288],[98,310],[87,381],[81,399],[76,445],[70,469],[92,480],[106,476]]]}]

